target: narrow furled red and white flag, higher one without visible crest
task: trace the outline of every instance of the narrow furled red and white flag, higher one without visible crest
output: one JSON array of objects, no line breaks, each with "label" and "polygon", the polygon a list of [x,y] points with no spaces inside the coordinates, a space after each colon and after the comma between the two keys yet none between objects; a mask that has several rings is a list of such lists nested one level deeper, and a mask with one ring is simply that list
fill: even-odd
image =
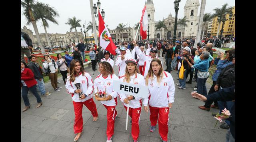
[{"label": "narrow furled red and white flag, higher one without visible crest", "polygon": [[140,19],[140,35],[142,36],[142,39],[147,38],[147,29],[148,29],[148,14],[146,10],[146,5],[142,10],[142,16]]}]

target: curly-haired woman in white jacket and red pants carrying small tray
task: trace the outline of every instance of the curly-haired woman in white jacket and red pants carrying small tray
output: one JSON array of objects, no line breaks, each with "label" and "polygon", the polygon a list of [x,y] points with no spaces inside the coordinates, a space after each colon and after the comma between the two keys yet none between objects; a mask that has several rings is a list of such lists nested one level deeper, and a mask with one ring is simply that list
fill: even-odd
[{"label": "curly-haired woman in white jacket and red pants carrying small tray", "polygon": [[118,80],[118,77],[114,74],[114,70],[109,62],[100,62],[99,71],[100,75],[94,80],[94,96],[107,109],[107,142],[112,142],[117,116],[117,93],[113,90],[113,81]]}]

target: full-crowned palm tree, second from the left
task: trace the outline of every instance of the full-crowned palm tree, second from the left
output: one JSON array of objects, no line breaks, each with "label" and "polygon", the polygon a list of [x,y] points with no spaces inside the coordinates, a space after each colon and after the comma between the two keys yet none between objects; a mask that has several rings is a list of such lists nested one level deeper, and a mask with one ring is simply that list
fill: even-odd
[{"label": "full-crowned palm tree, second from the left", "polygon": [[50,7],[48,4],[43,4],[41,2],[36,3],[36,8],[34,11],[35,11],[36,21],[39,19],[42,19],[48,46],[50,46],[50,40],[48,38],[48,33],[46,31],[46,27],[49,27],[49,24],[46,20],[49,20],[52,23],[55,23],[58,25],[58,22],[56,21],[56,19],[54,19],[54,17],[58,17],[59,14],[58,12],[56,12],[54,8]]}]

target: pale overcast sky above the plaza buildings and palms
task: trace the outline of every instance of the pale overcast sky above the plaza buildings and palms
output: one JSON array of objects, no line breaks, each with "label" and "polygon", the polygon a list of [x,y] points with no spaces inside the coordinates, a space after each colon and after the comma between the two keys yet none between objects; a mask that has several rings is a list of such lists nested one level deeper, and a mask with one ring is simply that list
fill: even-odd
[{"label": "pale overcast sky above the plaza buildings and palms", "polygon": [[[36,0],[35,0],[36,1]],[[81,19],[80,25],[82,26],[85,22],[88,24],[92,21],[90,11],[90,0],[38,0],[39,2],[49,4],[54,7],[59,13],[59,17],[56,18],[59,25],[56,25],[48,21],[49,27],[47,33],[66,33],[70,29],[70,25],[65,23],[68,18],[76,16],[76,19]],[[98,0],[93,0],[96,4]],[[119,23],[128,25],[127,27],[134,27],[134,24],[140,21],[142,16],[142,9],[144,8],[145,0],[100,0],[101,9],[104,9],[105,18],[104,22],[108,25],[109,29],[115,29]],[[172,17],[175,17],[174,0],[153,0],[155,14],[155,21],[167,18],[171,13]],[[199,0],[201,3],[201,0]],[[228,6],[235,6],[235,0],[206,0],[206,7],[204,13],[214,13],[214,8],[221,8],[223,4],[228,3]],[[179,4],[178,19],[184,17],[184,6],[186,0],[181,0]],[[97,6],[97,4],[96,4]],[[200,5],[201,6],[201,5]],[[200,6],[198,8],[198,16],[200,13]],[[25,16],[22,14],[24,9],[21,7],[21,23],[20,27],[23,28],[25,25],[28,29],[31,29],[35,35],[32,24],[26,25]],[[100,10],[101,11],[101,10]],[[98,19],[95,18],[98,24]],[[42,20],[36,22],[39,33],[45,33],[44,27],[42,26]],[[83,27],[82,27],[83,29]],[[75,31],[74,29],[72,31]],[[77,31],[80,31],[80,27],[77,27]],[[91,35],[91,31],[89,31]]]}]

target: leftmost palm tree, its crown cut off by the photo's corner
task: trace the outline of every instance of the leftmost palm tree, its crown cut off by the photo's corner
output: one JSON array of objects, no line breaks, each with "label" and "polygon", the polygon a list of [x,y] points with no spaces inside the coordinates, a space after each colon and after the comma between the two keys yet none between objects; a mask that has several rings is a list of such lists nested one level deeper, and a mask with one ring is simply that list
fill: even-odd
[{"label": "leftmost palm tree, its crown cut off by the photo's corner", "polygon": [[39,32],[38,32],[38,29],[37,29],[36,20],[34,18],[34,11],[33,10],[36,8],[34,0],[21,1],[21,6],[24,8],[24,12],[22,12],[22,13],[25,15],[25,17],[28,21],[27,25],[30,25],[30,23],[32,23],[34,31],[36,33],[36,38],[37,38],[38,43],[39,43],[39,45],[42,49],[41,52],[42,52],[42,54],[45,54],[43,45],[42,45],[40,37],[39,37]]}]

